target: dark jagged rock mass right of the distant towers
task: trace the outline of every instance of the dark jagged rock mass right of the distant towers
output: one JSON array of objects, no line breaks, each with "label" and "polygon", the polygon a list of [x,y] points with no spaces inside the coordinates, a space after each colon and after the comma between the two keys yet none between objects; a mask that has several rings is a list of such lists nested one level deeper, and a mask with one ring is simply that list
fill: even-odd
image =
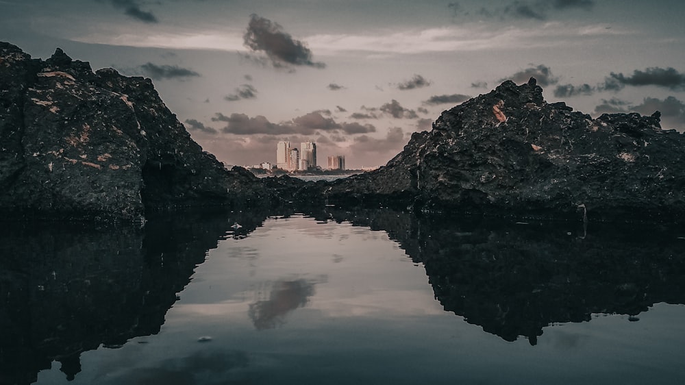
[{"label": "dark jagged rock mass right of the distant towers", "polygon": [[333,203],[545,219],[682,221],[685,136],[660,114],[592,119],[504,82],[443,114],[377,171],[327,188]]}]

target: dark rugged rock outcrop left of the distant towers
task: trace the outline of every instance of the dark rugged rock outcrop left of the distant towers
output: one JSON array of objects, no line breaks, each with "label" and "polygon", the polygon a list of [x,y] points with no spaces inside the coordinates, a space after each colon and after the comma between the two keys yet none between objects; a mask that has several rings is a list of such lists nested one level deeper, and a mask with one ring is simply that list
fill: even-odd
[{"label": "dark rugged rock outcrop left of the distant towers", "polygon": [[251,173],[202,151],[150,79],[0,42],[0,84],[0,212],[135,220],[264,195]]}]

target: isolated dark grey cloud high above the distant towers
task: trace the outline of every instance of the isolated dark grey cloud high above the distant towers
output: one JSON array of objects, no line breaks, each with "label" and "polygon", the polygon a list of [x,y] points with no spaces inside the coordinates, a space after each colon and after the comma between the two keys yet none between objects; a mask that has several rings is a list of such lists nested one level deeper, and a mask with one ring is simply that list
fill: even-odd
[{"label": "isolated dark grey cloud high above the distant towers", "polygon": [[312,51],[305,43],[283,32],[283,28],[268,18],[256,14],[250,16],[247,32],[243,35],[245,46],[255,52],[263,52],[274,67],[312,66],[323,69],[323,62],[312,60]]}]

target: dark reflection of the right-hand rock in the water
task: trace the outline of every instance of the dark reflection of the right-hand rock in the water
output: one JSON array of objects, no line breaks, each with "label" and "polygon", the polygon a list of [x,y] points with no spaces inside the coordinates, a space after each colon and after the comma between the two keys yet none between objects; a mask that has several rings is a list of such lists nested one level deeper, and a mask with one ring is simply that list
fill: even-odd
[{"label": "dark reflection of the right-hand rock in the water", "polygon": [[535,345],[553,323],[685,303],[684,243],[674,229],[419,219],[392,210],[314,216],[385,230],[423,263],[445,310],[508,341],[524,336]]}]

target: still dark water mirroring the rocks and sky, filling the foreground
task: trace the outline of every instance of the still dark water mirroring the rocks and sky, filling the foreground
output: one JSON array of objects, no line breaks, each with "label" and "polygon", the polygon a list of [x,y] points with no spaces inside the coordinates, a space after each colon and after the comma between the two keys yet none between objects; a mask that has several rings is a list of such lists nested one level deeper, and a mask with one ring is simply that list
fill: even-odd
[{"label": "still dark water mirroring the rocks and sky, filling the foreground", "polygon": [[8,226],[0,383],[682,384],[678,231],[389,210]]}]

